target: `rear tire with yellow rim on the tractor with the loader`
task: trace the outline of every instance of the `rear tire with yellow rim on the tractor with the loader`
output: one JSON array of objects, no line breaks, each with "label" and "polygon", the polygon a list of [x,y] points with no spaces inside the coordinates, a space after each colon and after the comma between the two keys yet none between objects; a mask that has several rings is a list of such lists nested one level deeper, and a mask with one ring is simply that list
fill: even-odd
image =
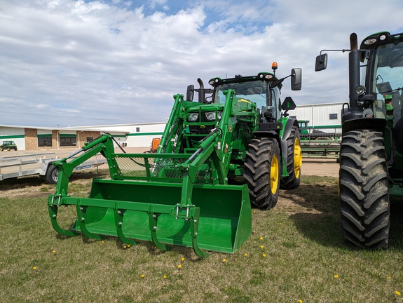
[{"label": "rear tire with yellow rim on the tractor with the loader", "polygon": [[280,189],[296,189],[301,182],[302,152],[299,129],[292,127],[287,138],[287,177],[282,177]]}]

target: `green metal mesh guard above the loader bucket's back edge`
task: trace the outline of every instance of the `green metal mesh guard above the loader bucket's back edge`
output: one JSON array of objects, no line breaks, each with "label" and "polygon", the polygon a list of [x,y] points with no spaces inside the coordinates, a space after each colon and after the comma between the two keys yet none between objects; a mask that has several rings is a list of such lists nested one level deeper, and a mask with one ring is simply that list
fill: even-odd
[{"label": "green metal mesh guard above the loader bucket's back edge", "polygon": [[[189,155],[190,156],[190,155]],[[180,166],[189,156],[182,154],[116,154],[118,177],[130,180],[182,182],[184,174]],[[200,166],[196,183],[212,183],[209,161]]]}]

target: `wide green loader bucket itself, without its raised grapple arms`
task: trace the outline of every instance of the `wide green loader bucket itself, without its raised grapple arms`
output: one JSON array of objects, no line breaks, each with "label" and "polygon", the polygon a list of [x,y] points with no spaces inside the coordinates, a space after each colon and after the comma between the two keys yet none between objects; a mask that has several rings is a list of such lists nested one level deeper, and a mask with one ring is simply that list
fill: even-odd
[{"label": "wide green loader bucket itself, without its raised grapple arms", "polygon": [[178,206],[181,194],[182,184],[177,183],[95,178],[89,198],[64,196],[62,203],[77,206],[72,230],[89,238],[153,241],[163,250],[168,249],[164,244],[196,245],[199,255],[198,249],[234,253],[250,236],[246,184],[194,184],[191,208]]}]

